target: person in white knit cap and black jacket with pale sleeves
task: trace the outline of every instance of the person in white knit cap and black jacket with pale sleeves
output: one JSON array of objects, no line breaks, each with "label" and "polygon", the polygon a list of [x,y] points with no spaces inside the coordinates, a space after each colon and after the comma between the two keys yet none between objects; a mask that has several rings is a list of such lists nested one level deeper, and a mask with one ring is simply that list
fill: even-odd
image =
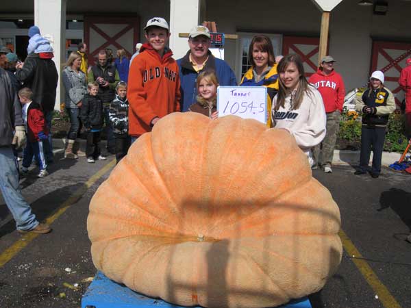
[{"label": "person in white knit cap and black jacket with pale sleeves", "polygon": [[370,77],[371,87],[362,97],[356,97],[356,111],[362,112],[360,168],[354,175],[363,175],[369,169],[371,149],[373,164],[371,177],[379,177],[381,172],[382,149],[386,135],[388,116],[395,110],[393,93],[384,87],[384,73],[375,70]]}]

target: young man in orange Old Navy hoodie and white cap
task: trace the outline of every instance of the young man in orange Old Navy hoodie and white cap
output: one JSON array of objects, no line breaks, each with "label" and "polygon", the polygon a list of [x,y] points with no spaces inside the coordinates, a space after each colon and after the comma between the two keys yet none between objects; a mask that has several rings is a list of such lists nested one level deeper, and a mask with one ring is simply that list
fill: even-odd
[{"label": "young man in orange Old Navy hoodie and white cap", "polygon": [[171,112],[179,112],[180,81],[177,62],[166,47],[169,24],[153,17],[145,27],[147,42],[140,48],[129,70],[129,135],[132,142],[151,131]]}]

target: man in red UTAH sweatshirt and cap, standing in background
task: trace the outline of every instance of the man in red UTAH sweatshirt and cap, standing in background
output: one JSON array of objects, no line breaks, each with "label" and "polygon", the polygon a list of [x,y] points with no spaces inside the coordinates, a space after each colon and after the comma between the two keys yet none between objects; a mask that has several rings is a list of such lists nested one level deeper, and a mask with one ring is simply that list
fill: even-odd
[{"label": "man in red UTAH sweatshirt and cap, standing in background", "polygon": [[313,149],[314,165],[323,168],[324,172],[331,173],[334,146],[340,130],[340,114],[343,112],[345,87],[343,78],[334,70],[334,58],[326,55],[316,73],[312,74],[308,82],[313,84],[323,97],[325,113],[327,114],[327,133],[321,144]]}]

